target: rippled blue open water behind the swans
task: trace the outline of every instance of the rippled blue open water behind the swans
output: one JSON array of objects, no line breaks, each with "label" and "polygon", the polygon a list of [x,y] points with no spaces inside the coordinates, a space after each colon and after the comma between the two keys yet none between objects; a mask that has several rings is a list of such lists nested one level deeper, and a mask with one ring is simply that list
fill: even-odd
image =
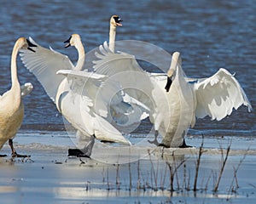
[{"label": "rippled blue open water behind the swans", "polygon": [[[236,72],[255,105],[256,4],[245,1],[1,1],[0,94],[10,88],[10,54],[18,37],[33,37],[76,60],[63,41],[79,33],[86,51],[108,40],[109,18],[119,14],[123,27],[116,40],[151,42],[181,52],[188,77],[209,77],[220,67]],[[26,97],[24,129],[63,129],[62,117],[37,79],[18,59],[20,83],[32,82]],[[153,67],[146,67],[154,71]],[[221,122],[199,120],[192,133],[256,136],[255,113],[241,107]],[[148,127],[143,122],[141,129]]]}]

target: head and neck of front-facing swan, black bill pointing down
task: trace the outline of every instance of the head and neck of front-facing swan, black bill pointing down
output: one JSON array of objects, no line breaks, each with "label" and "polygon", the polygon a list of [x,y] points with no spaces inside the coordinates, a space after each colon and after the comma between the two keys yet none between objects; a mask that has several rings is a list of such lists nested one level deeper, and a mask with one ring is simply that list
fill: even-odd
[{"label": "head and neck of front-facing swan, black bill pointing down", "polygon": [[167,82],[166,82],[166,87],[165,87],[166,92],[169,92],[169,90],[171,88],[174,73],[177,69],[177,65],[181,65],[181,58],[180,58],[179,52],[175,52],[172,54],[171,66],[170,66],[169,71],[167,71]]}]

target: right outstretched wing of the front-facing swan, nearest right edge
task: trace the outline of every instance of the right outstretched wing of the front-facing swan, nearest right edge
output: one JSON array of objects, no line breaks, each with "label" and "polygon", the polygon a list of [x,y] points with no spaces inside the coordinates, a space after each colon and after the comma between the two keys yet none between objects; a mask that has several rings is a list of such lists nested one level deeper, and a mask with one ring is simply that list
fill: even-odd
[{"label": "right outstretched wing of the front-facing swan, nearest right edge", "polygon": [[210,116],[212,120],[219,121],[241,105],[248,106],[248,111],[252,111],[239,82],[223,68],[212,77],[195,82],[194,88],[197,100],[195,115],[198,118]]}]

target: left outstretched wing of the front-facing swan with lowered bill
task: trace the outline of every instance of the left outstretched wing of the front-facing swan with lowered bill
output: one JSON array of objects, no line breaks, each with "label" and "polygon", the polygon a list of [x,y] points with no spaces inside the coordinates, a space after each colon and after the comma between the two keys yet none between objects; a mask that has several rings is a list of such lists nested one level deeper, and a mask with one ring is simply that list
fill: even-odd
[{"label": "left outstretched wing of the front-facing swan with lowered bill", "polygon": [[[137,63],[134,55],[122,52],[113,53],[107,42],[99,47],[94,60],[96,73],[107,75],[113,81],[119,82],[126,94],[142,102],[150,109],[152,90],[154,86],[146,71]],[[152,106],[151,106],[152,107]]]}]

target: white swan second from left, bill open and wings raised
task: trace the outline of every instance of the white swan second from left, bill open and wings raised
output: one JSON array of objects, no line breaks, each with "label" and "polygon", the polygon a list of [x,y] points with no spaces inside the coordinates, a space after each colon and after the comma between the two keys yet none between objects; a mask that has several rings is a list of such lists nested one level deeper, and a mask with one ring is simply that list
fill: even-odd
[{"label": "white swan second from left, bill open and wings raised", "polygon": [[73,65],[66,55],[52,48],[41,47],[31,37],[29,41],[36,44],[37,48],[35,53],[21,50],[21,61],[41,82],[50,99],[55,102],[57,110],[78,130],[77,135],[90,139],[84,149],[69,150],[69,155],[90,156],[95,138],[130,145],[130,141],[104,119],[108,114],[108,104],[104,104],[104,101],[109,100],[104,97],[107,97],[111,90],[105,88],[106,94],[97,96],[97,101],[94,98],[98,88],[104,87],[106,76],[81,71],[85,54],[79,35],[73,34],[65,41],[66,48],[74,46],[79,52],[76,65]]}]

